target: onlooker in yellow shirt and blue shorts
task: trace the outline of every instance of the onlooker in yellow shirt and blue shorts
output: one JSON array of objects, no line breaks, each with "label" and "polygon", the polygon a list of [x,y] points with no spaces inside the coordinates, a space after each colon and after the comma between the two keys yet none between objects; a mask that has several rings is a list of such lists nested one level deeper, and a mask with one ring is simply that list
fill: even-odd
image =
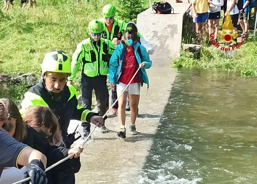
[{"label": "onlooker in yellow shirt and blue shorts", "polygon": [[208,0],[192,0],[193,22],[196,26],[196,36],[199,38],[201,30],[206,33],[209,4]]}]

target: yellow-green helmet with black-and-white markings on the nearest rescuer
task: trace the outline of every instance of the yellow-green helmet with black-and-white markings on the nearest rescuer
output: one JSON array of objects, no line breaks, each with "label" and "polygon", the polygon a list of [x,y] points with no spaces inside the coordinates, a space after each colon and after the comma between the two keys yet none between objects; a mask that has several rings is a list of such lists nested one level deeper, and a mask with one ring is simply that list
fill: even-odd
[{"label": "yellow-green helmet with black-and-white markings on the nearest rescuer", "polygon": [[71,73],[68,55],[57,49],[45,54],[41,68],[42,74],[45,72]]}]

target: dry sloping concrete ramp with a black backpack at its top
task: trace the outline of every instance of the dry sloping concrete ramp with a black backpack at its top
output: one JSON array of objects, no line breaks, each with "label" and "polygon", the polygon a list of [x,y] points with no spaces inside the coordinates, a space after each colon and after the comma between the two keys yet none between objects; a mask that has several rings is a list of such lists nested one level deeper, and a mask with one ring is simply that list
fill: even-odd
[{"label": "dry sloping concrete ramp with a black backpack at its top", "polygon": [[185,0],[183,3],[168,2],[174,8],[174,14],[154,14],[149,8],[137,16],[138,30],[146,41],[156,45],[163,39],[151,55],[153,66],[169,66],[180,56],[183,15],[189,4]]}]

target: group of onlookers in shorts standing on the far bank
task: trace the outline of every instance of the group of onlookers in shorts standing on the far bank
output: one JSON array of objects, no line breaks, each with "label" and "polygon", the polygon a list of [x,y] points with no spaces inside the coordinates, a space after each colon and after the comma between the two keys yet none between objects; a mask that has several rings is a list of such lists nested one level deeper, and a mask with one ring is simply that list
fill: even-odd
[{"label": "group of onlookers in shorts standing on the far bank", "polygon": [[[228,13],[232,20],[233,31],[238,31],[241,27],[242,34],[239,36],[243,37],[244,34],[247,36],[251,10],[254,8],[252,17],[255,19],[257,9],[256,0],[188,0],[188,3],[190,3],[188,14],[192,22],[192,32],[195,32],[198,40],[206,34],[214,33],[215,42],[218,42],[219,20],[222,19],[224,23]],[[237,39],[233,39],[236,42]]]}]

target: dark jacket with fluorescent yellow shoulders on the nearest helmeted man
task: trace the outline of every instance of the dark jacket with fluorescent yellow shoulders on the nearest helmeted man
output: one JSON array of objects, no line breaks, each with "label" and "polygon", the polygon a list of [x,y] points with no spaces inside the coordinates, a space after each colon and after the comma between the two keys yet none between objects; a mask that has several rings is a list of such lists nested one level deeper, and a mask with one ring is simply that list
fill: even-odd
[{"label": "dark jacket with fluorescent yellow shoulders on the nearest helmeted man", "polygon": [[90,122],[91,116],[98,115],[98,113],[91,112],[78,105],[77,92],[74,86],[65,85],[62,92],[52,95],[45,88],[43,80],[24,94],[19,105],[20,113],[24,116],[30,107],[39,105],[49,107],[59,119],[63,141],[66,146],[70,145],[67,138],[67,129],[70,120],[76,119],[83,122]]}]

